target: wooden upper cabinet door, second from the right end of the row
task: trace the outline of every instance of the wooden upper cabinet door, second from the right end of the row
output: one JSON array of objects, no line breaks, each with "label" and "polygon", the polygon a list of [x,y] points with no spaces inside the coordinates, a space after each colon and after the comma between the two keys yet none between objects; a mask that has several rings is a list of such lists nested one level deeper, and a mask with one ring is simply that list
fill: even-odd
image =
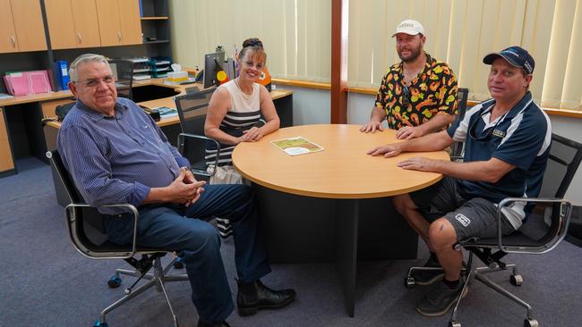
[{"label": "wooden upper cabinet door, second from the right end of the row", "polygon": [[97,4],[97,18],[99,21],[101,46],[122,45],[121,23],[117,1],[98,0],[95,4]]}]

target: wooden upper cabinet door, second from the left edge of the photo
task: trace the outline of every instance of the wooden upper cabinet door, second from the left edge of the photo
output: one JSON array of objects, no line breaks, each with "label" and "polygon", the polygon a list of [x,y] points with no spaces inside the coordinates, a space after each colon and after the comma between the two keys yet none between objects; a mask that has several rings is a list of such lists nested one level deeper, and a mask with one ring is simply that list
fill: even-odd
[{"label": "wooden upper cabinet door, second from the left edge of the photo", "polygon": [[39,0],[12,0],[10,4],[19,51],[47,50]]}]

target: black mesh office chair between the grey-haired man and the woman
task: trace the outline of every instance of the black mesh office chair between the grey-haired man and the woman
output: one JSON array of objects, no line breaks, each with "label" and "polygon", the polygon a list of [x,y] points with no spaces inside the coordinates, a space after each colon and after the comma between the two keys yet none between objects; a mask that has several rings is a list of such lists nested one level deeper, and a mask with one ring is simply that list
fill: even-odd
[{"label": "black mesh office chair between the grey-haired man and the woman", "polygon": [[214,170],[208,172],[206,163],[207,142],[213,142],[217,147],[217,159],[214,167],[218,167],[220,155],[220,143],[212,138],[204,136],[204,122],[210,97],[216,88],[206,88],[198,92],[192,92],[182,96],[175,96],[175,107],[180,117],[182,133],[178,135],[178,151],[190,160],[192,172],[196,179],[210,181]]}]

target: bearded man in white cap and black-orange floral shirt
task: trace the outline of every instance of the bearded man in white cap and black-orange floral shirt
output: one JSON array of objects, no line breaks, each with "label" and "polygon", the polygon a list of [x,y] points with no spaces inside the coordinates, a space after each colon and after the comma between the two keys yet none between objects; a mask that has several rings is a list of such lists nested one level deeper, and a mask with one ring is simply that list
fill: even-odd
[{"label": "bearded man in white cap and black-orange floral shirt", "polygon": [[389,129],[398,130],[397,138],[418,138],[442,130],[457,114],[457,79],[447,63],[439,62],[424,52],[423,25],[418,21],[402,21],[396,32],[396,51],[402,60],[392,65],[376,96],[370,122],[360,130],[383,130],[386,119]]}]

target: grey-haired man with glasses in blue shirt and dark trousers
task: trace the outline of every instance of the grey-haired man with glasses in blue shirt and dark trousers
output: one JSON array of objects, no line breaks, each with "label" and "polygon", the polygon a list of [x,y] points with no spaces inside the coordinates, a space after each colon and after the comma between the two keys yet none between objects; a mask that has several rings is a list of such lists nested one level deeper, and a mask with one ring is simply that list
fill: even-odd
[{"label": "grey-haired man with glasses in blue shirt and dark trousers", "polygon": [[[273,290],[261,283],[270,265],[252,189],[195,180],[188,159],[169,144],[156,122],[132,100],[117,97],[104,56],[79,56],[69,75],[77,102],[58,133],[64,166],[88,204],[138,208],[142,247],[167,248],[184,258],[200,316],[197,325],[228,326],[235,308],[218,232],[205,222],[214,215],[233,223],[238,313],[291,303],[293,289]],[[116,214],[105,210],[99,208]],[[111,242],[131,243],[133,222],[112,215],[106,224]]]}]

